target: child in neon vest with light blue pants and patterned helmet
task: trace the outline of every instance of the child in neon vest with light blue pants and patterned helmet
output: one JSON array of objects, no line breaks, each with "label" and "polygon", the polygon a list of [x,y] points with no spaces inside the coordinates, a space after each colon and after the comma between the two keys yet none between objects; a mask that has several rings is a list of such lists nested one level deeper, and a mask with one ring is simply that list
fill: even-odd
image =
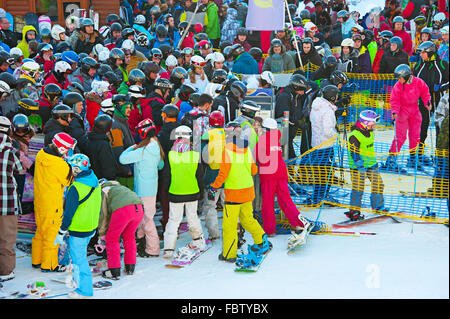
[{"label": "child in neon vest with light blue pants and patterned helmet", "polygon": [[66,161],[72,168],[74,182],[67,190],[62,223],[54,243],[63,245],[64,236],[69,233],[72,276],[77,285],[69,297],[91,297],[94,291],[86,251],[98,227],[102,204],[101,188],[97,177],[90,169],[89,158],[86,155],[75,154]]}]

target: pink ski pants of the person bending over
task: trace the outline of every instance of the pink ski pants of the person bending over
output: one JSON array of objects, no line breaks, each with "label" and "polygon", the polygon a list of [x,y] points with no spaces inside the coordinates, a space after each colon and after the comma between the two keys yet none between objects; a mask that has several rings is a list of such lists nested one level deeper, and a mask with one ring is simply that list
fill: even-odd
[{"label": "pink ski pants of the person bending over", "polygon": [[111,215],[105,236],[108,268],[120,268],[120,237],[122,237],[125,248],[124,263],[126,265],[136,264],[135,233],[143,216],[142,205],[127,205],[115,210]]}]

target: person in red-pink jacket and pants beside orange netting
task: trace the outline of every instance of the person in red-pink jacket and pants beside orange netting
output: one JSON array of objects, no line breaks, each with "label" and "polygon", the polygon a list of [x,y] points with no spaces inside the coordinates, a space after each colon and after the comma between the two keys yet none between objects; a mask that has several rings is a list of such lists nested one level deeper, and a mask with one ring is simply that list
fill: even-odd
[{"label": "person in red-pink jacket and pants beside orange netting", "polygon": [[270,130],[265,128],[267,131],[259,138],[254,152],[261,182],[263,229],[267,235],[275,235],[275,195],[281,210],[293,228],[303,228],[307,222],[303,222],[304,219],[300,216],[289,193],[287,168],[280,145],[281,133],[276,126]]}]

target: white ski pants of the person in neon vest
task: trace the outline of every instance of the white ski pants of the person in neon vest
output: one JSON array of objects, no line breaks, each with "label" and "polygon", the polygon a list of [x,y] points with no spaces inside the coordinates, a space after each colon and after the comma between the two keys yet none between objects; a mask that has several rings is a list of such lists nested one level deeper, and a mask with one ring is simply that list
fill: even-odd
[{"label": "white ski pants of the person in neon vest", "polygon": [[186,208],[186,220],[192,240],[197,240],[203,235],[200,218],[197,216],[198,201],[173,203],[169,202],[169,221],[164,231],[164,250],[175,250],[178,238],[178,227],[183,220]]}]

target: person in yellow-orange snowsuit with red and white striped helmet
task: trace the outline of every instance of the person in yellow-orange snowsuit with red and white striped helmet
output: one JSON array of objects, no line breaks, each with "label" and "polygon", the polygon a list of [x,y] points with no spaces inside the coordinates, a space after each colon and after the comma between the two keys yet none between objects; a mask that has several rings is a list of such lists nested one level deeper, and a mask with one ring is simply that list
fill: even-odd
[{"label": "person in yellow-orange snowsuit with red and white striped helmet", "polygon": [[58,245],[54,239],[63,217],[64,187],[73,180],[72,169],[64,157],[75,142],[66,133],[58,133],[52,143],[36,155],[34,168],[34,214],[36,233],[32,239],[31,264],[43,272],[65,271],[58,263]]}]

